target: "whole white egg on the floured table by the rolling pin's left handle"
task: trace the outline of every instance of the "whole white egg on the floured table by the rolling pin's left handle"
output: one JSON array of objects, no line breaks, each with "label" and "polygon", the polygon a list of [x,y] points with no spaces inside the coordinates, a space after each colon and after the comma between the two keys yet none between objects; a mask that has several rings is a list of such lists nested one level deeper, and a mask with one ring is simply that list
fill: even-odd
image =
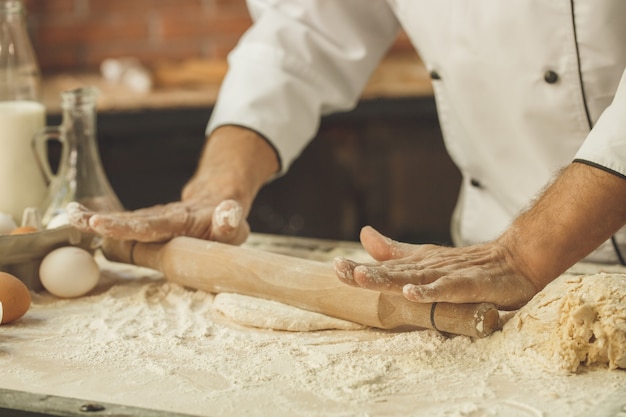
[{"label": "whole white egg on the floured table by the rolling pin's left handle", "polygon": [[100,278],[100,268],[86,250],[65,246],[47,254],[39,267],[39,279],[50,294],[74,298],[91,291]]}]

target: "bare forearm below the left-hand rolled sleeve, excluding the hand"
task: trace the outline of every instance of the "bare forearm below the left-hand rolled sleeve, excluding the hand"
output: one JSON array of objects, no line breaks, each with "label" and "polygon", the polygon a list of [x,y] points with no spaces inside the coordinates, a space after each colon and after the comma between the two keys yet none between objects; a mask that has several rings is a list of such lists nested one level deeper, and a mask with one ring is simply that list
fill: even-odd
[{"label": "bare forearm below the left-hand rolled sleeve, excluding the hand", "polygon": [[183,200],[218,196],[252,204],[256,193],[279,171],[274,148],[252,130],[222,126],[207,139]]}]

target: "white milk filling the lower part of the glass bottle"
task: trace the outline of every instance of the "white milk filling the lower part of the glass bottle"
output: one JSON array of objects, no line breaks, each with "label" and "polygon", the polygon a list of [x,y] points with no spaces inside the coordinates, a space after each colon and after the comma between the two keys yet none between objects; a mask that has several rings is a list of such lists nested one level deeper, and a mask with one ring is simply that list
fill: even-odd
[{"label": "white milk filling the lower part of the glass bottle", "polygon": [[46,182],[31,146],[45,125],[45,108],[33,101],[0,101],[0,212],[19,224],[26,207],[39,206]]}]

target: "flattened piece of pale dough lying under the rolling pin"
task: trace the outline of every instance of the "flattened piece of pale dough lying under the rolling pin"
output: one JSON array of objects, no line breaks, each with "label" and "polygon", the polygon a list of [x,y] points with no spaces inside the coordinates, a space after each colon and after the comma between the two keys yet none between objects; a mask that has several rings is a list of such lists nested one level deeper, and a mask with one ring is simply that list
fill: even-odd
[{"label": "flattened piece of pale dough lying under the rolling pin", "polygon": [[213,307],[236,323],[264,329],[309,332],[329,329],[358,330],[366,327],[277,301],[242,294],[217,294]]}]

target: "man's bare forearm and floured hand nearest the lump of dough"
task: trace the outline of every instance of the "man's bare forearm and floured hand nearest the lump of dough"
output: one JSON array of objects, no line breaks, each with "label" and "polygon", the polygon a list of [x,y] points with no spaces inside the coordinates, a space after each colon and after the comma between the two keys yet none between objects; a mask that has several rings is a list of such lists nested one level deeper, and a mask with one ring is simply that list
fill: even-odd
[{"label": "man's bare forearm and floured hand nearest the lump of dough", "polygon": [[339,279],[415,302],[521,307],[626,223],[626,179],[574,162],[496,240],[464,248],[394,242],[370,227],[361,242],[380,261],[335,261]]}]

